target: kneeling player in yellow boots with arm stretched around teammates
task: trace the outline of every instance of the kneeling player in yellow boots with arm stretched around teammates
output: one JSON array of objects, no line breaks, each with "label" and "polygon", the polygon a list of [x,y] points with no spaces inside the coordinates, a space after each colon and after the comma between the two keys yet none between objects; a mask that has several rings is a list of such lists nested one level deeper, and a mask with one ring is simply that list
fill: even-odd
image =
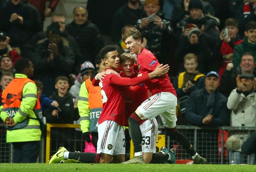
[{"label": "kneeling player in yellow boots with arm stretched around teammates", "polygon": [[[114,46],[106,46],[101,49],[100,56],[107,69],[119,68],[119,55]],[[84,162],[120,163],[125,161],[125,139],[123,126],[127,123],[124,116],[124,98],[120,86],[135,86],[154,77],[162,76],[169,70],[167,66],[159,66],[154,72],[143,74],[135,78],[120,78],[118,75],[106,75],[104,82],[100,83],[103,110],[99,118],[97,154],[93,153],[69,153],[61,148],[53,155],[49,163],[56,163],[63,159],[75,159]],[[94,84],[93,84],[94,85]],[[127,125],[126,125],[127,126]],[[85,155],[86,154],[86,155]],[[59,156],[61,155],[61,156]]]}]

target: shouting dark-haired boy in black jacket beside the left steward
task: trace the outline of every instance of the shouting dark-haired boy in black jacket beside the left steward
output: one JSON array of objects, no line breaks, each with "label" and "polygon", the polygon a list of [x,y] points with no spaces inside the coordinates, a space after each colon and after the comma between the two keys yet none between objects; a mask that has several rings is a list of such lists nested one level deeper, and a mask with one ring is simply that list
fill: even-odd
[{"label": "shouting dark-haired boy in black jacket beside the left steward", "polygon": [[73,124],[74,120],[77,120],[78,109],[75,102],[76,97],[72,96],[68,89],[68,78],[66,76],[59,76],[55,80],[55,91],[49,97],[51,100],[55,100],[59,104],[60,110],[52,110],[45,108],[44,116],[47,123],[54,124]]}]

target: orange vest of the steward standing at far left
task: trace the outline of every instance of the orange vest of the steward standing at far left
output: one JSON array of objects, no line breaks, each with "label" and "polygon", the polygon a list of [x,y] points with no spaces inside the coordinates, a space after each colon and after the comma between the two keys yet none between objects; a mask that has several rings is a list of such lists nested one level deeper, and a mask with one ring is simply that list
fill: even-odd
[{"label": "orange vest of the steward standing at far left", "polygon": [[[37,120],[39,120],[40,123],[43,121],[41,105],[39,102],[38,94],[37,95],[26,94],[22,97],[23,87],[28,82],[33,82],[35,84],[35,82],[29,78],[15,78],[12,80],[12,82],[9,83],[9,85],[4,90],[4,93],[2,95],[2,103],[3,103],[3,110],[7,113],[7,115],[9,117],[13,118],[15,116],[16,112],[19,111],[19,113],[22,116],[27,117],[25,120],[23,120],[22,122],[14,125],[12,127],[8,126],[7,127],[8,130],[16,130],[16,129],[21,129],[24,127],[29,128],[27,126],[29,119],[37,119]],[[25,98],[25,97],[37,98],[36,105],[33,109],[37,118],[31,118],[31,117],[29,117],[29,114],[26,114],[21,111],[20,104],[21,104],[22,98]]]}]

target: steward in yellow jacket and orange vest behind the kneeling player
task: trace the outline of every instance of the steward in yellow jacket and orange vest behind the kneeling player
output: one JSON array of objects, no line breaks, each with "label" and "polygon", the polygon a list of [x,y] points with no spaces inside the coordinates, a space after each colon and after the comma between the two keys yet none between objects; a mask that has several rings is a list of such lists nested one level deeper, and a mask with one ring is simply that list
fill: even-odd
[{"label": "steward in yellow jacket and orange vest behind the kneeling player", "polygon": [[[95,57],[95,64],[97,68],[97,73],[105,71],[105,63],[101,59],[100,55]],[[93,77],[90,77],[81,85],[78,98],[78,111],[79,111],[79,121],[81,125],[81,130],[83,132],[82,138],[90,142],[90,134],[92,135],[93,146],[97,149],[98,141],[98,120],[100,113],[102,111],[102,95],[101,88],[92,85]],[[92,114],[92,115],[91,115]],[[89,133],[90,132],[90,133]]]}]

